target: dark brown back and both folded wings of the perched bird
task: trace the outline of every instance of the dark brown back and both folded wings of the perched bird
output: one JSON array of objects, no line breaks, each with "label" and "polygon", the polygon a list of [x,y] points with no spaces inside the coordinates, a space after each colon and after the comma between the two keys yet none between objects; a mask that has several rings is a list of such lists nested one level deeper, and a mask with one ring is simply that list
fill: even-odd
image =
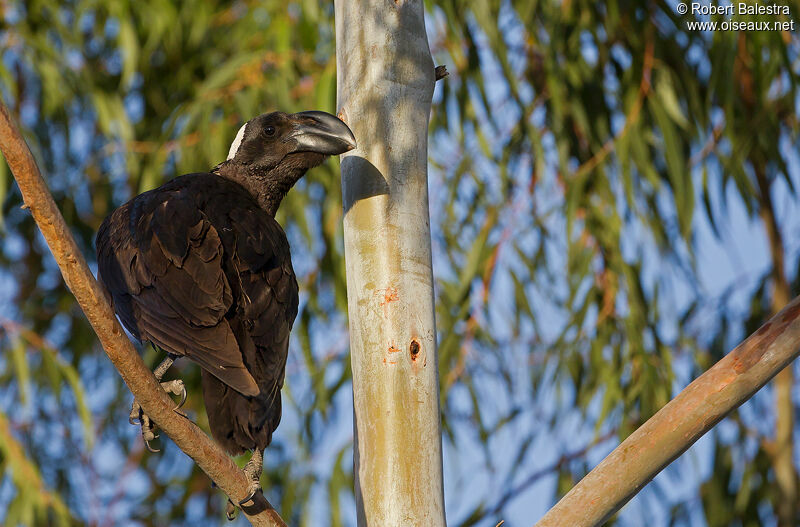
[{"label": "dark brown back and both folded wings of the perched bird", "polygon": [[[193,174],[146,192],[106,219],[97,253],[135,337],[267,406],[280,398],[297,281],[286,235],[241,187]],[[277,426],[279,409],[259,412]]]}]

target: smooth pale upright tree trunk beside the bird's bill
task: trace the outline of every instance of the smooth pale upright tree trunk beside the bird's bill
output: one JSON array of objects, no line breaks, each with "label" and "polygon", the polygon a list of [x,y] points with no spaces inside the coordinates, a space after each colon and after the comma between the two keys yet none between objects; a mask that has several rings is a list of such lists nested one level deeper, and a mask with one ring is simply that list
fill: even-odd
[{"label": "smooth pale upright tree trunk beside the bird's bill", "polygon": [[337,0],[358,524],[445,524],[420,0]]}]

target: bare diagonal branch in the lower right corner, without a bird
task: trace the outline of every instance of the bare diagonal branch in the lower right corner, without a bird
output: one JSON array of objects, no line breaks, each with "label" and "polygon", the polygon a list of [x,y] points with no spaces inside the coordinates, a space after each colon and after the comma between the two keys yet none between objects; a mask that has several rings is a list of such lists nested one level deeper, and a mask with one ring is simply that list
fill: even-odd
[{"label": "bare diagonal branch in the lower right corner, without a bird", "polygon": [[694,380],[572,488],[536,527],[600,525],[800,354],[800,297]]}]

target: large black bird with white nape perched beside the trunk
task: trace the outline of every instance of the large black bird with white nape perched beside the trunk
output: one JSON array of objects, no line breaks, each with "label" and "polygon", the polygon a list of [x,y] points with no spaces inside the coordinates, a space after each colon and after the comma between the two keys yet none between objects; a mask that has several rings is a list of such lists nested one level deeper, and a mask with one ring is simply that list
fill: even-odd
[{"label": "large black bird with white nape perched beside the trunk", "polygon": [[[263,451],[281,419],[297,281],[289,243],[275,221],[281,200],[308,169],[355,148],[342,121],[325,112],[264,114],[239,129],[228,159],[140,194],[97,233],[101,282],[139,341],[202,368],[214,439],[232,455],[253,455],[249,501],[259,489]],[[162,383],[186,399],[180,380]],[[178,405],[180,407],[180,405]],[[154,425],[136,401],[150,448]]]}]

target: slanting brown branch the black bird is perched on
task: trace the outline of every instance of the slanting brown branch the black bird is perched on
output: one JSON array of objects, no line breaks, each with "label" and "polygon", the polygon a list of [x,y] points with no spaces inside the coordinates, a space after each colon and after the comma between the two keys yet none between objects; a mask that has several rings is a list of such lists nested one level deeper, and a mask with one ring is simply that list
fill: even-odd
[{"label": "slanting brown branch the black bird is perched on", "polygon": [[[244,499],[247,476],[200,428],[173,411],[175,403],[161,389],[117,321],[105,294],[94,279],[69,228],[47,190],[33,155],[8,108],[0,102],[0,150],[17,180],[25,205],[33,214],[64,281],[92,324],[100,343],[144,411],[186,455],[234,501]],[[120,417],[122,418],[122,417]],[[243,508],[256,526],[285,526],[272,505],[259,493]]]}]

